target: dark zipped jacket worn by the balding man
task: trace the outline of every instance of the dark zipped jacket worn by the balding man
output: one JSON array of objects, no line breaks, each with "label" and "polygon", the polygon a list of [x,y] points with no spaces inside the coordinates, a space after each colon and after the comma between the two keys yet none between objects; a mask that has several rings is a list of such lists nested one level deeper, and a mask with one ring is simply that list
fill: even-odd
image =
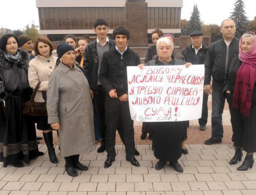
[{"label": "dark zipped jacket worn by the balding man", "polygon": [[239,39],[233,38],[229,47],[224,39],[210,45],[205,59],[204,84],[210,84],[212,78],[220,83],[224,82],[225,73],[232,58],[239,53]]}]

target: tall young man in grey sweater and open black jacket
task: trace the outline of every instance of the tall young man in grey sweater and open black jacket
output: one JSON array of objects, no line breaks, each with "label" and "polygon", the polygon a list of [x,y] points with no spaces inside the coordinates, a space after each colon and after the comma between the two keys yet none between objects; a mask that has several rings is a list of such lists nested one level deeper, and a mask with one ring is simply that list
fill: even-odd
[{"label": "tall young man in grey sweater and open black jacket", "polygon": [[[91,96],[93,98],[94,110],[96,110],[99,131],[101,134],[101,146],[98,148],[98,153],[103,153],[105,150],[105,92],[99,81],[100,62],[103,53],[115,48],[115,41],[109,39],[106,35],[109,32],[108,23],[104,19],[97,19],[94,22],[94,32],[97,34],[97,39],[90,42],[84,51],[83,68],[86,71],[87,79],[90,85]],[[122,142],[123,140],[123,127],[118,125],[118,133]],[[139,152],[135,150],[135,155],[138,156]]]}]

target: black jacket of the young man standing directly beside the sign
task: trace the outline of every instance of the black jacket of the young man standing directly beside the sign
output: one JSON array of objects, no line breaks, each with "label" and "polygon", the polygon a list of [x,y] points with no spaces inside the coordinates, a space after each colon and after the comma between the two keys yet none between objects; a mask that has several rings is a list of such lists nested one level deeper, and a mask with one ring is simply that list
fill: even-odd
[{"label": "black jacket of the young man standing directly beside the sign", "polygon": [[117,96],[127,94],[127,69],[126,67],[138,66],[140,64],[140,57],[133,52],[129,47],[121,54],[112,48],[102,55],[99,80],[105,92],[116,89]]}]

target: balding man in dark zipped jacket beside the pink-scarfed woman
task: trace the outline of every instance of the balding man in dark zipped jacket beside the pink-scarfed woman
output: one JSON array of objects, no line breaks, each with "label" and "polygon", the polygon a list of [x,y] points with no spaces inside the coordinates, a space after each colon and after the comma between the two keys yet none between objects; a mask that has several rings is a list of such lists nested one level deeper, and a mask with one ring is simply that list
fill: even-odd
[{"label": "balding man in dark zipped jacket beside the pink-scarfed woman", "polygon": [[223,39],[210,45],[205,59],[204,90],[206,94],[212,93],[211,138],[204,142],[206,145],[222,141],[222,113],[226,99],[222,93],[223,82],[229,63],[239,53],[239,39],[234,37],[236,33],[234,21],[225,19],[220,30]]}]

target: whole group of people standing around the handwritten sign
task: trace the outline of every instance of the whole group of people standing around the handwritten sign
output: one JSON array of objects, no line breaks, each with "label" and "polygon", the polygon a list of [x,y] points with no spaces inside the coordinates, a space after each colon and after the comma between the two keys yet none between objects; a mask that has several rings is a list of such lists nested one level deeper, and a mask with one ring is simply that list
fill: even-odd
[{"label": "whole group of people standing around the handwritten sign", "polygon": [[[205,64],[205,85],[200,130],[206,128],[208,95],[212,94],[212,136],[205,144],[221,143],[223,137],[222,113],[225,99],[229,104],[232,140],[236,147],[230,164],[241,161],[242,150],[247,152],[238,170],[253,165],[256,150],[256,41],[255,34],[245,33],[234,37],[236,26],[231,19],[221,24],[223,38],[209,48],[203,43],[201,31],[190,33],[191,45],[182,51],[183,59],[174,55],[175,37],[159,29],[152,33],[153,46],[148,48],[145,64],[131,50],[129,29],[118,26],[113,39],[108,38],[106,20],[97,19],[94,32],[76,39],[65,37],[65,44],[57,47],[44,36],[34,41],[27,35],[16,37],[6,34],[0,39],[0,161],[4,167],[25,166],[29,160],[44,155],[38,150],[35,129],[42,131],[52,163],[57,163],[52,131],[57,131],[59,149],[65,158],[68,175],[77,176],[78,170],[88,170],[79,162],[79,155],[90,153],[95,140],[100,140],[98,153],[106,150],[104,167],[115,161],[116,130],[125,146],[125,159],[140,166],[135,156],[133,120],[130,116],[127,94],[127,66],[172,66],[188,68],[191,64]],[[20,45],[21,44],[21,45]],[[26,51],[25,51],[26,50]],[[212,81],[211,81],[212,78]],[[23,114],[24,103],[30,100],[33,90],[35,102],[47,102],[48,116]],[[36,128],[35,128],[36,124]],[[176,171],[183,172],[178,159],[188,154],[184,144],[189,121],[143,123],[141,139],[153,140],[155,165],[162,169],[166,162]]]}]

